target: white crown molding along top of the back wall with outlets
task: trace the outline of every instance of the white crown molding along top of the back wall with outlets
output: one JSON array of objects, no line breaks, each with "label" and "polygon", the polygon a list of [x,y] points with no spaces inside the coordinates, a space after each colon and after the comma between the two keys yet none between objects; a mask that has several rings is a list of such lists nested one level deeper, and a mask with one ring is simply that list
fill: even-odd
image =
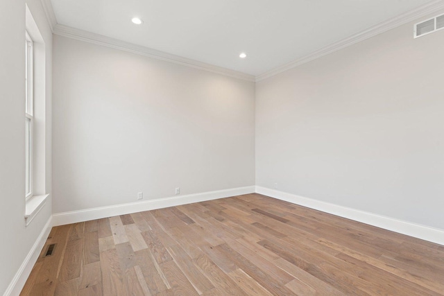
[{"label": "white crown molding along top of the back wall with outlets", "polygon": [[239,71],[234,71],[226,69],[223,67],[214,66],[212,64],[207,64],[205,62],[198,62],[196,60],[191,60],[188,58],[182,58],[178,55],[172,55],[170,53],[165,53],[163,51],[157,51],[155,49],[149,49],[145,46],[136,45],[130,42],[125,42],[117,40],[111,37],[106,37],[96,33],[91,33],[77,28],[71,28],[69,26],[63,26],[57,24],[54,27],[54,34],[69,37],[72,39],[89,42],[92,44],[98,44],[101,46],[107,46],[112,49],[119,49],[121,51],[127,51],[129,53],[135,53],[138,55],[144,55],[149,58],[155,58],[157,60],[164,60],[166,62],[173,62],[174,64],[181,64],[183,66],[191,67],[194,69],[200,69],[204,71],[210,71],[212,73],[221,74],[224,76],[230,76],[241,80],[246,80],[250,82],[255,82],[255,76],[246,73],[241,73]]}]

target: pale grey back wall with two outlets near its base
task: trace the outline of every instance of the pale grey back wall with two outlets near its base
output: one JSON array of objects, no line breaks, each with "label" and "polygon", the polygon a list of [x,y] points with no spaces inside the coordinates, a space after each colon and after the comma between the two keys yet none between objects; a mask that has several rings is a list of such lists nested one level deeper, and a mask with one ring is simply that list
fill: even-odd
[{"label": "pale grey back wall with two outlets near its base", "polygon": [[255,183],[255,84],[54,36],[53,212]]}]

